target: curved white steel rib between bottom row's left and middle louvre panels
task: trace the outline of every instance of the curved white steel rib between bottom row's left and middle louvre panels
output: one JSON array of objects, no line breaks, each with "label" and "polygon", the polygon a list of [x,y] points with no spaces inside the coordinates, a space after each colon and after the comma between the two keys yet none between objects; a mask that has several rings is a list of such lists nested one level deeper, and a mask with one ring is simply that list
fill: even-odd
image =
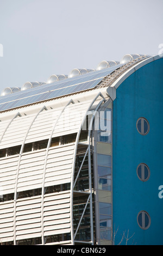
[{"label": "curved white steel rib between bottom row's left and middle louvre panels", "polygon": [[28,135],[28,132],[31,128],[31,126],[33,125],[35,119],[37,118],[37,116],[43,111],[43,109],[46,109],[45,106],[43,106],[41,108],[41,110],[35,115],[34,119],[32,120],[32,122],[29,125],[28,131],[26,132],[26,135],[24,137],[23,143],[21,145],[21,150],[20,150],[20,155],[18,157],[18,163],[17,163],[17,172],[16,172],[16,181],[15,181],[15,193],[14,193],[14,245],[16,245],[16,200],[17,200],[17,181],[18,181],[18,172],[19,172],[19,168],[20,168],[20,162],[21,162],[21,156],[23,153],[23,149],[24,149],[24,144],[26,142],[26,138]]}]

